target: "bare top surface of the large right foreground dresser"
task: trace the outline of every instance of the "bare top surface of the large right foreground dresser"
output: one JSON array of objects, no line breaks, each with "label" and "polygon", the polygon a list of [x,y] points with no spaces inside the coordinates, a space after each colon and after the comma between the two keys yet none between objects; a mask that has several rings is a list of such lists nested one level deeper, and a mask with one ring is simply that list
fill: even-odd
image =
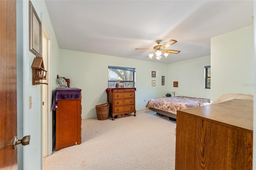
[{"label": "bare top surface of the large right foreground dresser", "polygon": [[[177,111],[231,128],[253,131],[253,101],[233,99],[222,103]],[[177,121],[179,121],[177,119]],[[240,129],[241,130],[241,129]]]}]

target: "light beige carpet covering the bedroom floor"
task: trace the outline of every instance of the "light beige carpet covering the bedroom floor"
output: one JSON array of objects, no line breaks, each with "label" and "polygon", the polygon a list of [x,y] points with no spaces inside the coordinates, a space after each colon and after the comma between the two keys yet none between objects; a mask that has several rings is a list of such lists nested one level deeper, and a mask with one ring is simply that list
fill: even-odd
[{"label": "light beige carpet covering the bedroom floor", "polygon": [[174,170],[176,122],[150,110],[82,120],[82,143],[43,159],[44,170]]}]

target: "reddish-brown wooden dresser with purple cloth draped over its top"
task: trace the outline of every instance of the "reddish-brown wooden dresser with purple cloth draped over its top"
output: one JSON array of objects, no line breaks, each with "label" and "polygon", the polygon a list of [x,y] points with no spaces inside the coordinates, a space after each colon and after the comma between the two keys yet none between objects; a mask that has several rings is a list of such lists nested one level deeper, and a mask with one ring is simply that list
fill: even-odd
[{"label": "reddish-brown wooden dresser with purple cloth draped over its top", "polygon": [[77,88],[56,89],[56,92],[54,101],[57,102],[55,142],[57,151],[67,146],[81,144],[82,97],[80,89]]}]

